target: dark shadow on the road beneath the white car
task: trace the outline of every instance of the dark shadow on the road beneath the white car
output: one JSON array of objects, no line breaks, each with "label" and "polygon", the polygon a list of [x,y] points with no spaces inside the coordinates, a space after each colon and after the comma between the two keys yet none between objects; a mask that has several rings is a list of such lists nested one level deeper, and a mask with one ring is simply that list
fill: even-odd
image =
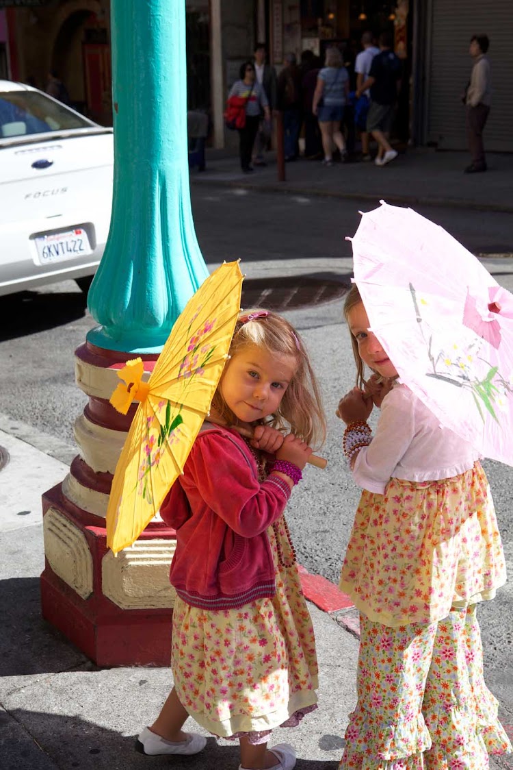
[{"label": "dark shadow on the road beneath the white car", "polygon": [[0,297],[0,342],[14,340],[83,318],[87,296],[82,292],[20,292]]}]

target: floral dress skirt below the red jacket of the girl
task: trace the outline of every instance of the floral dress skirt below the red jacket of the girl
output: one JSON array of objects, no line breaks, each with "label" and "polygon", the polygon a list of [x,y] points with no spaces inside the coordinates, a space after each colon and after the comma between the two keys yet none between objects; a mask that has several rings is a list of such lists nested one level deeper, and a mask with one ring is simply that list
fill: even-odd
[{"label": "floral dress skirt below the red jacket of the girl", "polygon": [[[316,708],[314,630],[283,521],[268,529],[276,594],[236,610],[202,610],[177,598],[172,671],[179,700],[203,728],[263,743]],[[278,540],[281,557],[278,557]]]}]

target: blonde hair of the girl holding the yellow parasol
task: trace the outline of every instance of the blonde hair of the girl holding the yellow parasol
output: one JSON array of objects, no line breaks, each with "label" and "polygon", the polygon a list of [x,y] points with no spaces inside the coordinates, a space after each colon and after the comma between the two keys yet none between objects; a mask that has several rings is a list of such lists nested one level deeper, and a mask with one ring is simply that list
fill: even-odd
[{"label": "blonde hair of the girl holding the yellow parasol", "polygon": [[[267,313],[246,321],[247,316]],[[295,358],[297,369],[288,383],[278,410],[270,415],[265,424],[277,430],[291,430],[307,444],[320,446],[326,436],[325,413],[321,404],[321,393],[311,368],[305,345],[291,323],[278,313],[259,308],[245,310],[238,320],[230,346],[230,356],[235,356],[245,347],[255,345],[276,356]],[[222,397],[221,382],[215,391],[212,408],[228,424],[237,418]]]}]

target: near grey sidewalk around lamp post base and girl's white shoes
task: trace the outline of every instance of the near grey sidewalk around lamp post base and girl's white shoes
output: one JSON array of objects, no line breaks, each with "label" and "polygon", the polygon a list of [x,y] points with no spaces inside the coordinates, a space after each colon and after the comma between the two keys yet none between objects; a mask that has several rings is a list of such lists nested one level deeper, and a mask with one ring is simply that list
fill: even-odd
[{"label": "near grey sidewalk around lamp post base and girl's white shoes", "polygon": [[[192,758],[135,753],[135,735],[158,713],[172,684],[171,671],[97,668],[42,620],[41,494],[65,477],[68,466],[5,431],[0,431],[0,447],[10,456],[0,471],[0,767],[199,770],[208,763],[236,768],[237,745],[214,738],[206,752]],[[309,604],[320,665],[319,708],[293,731],[276,730],[274,741],[295,745],[298,770],[335,770],[355,705],[358,658],[358,639],[337,618],[348,612],[347,621],[353,613],[349,624],[355,629],[355,611],[337,611],[339,592],[324,578],[305,574],[305,581],[307,593],[333,610]],[[187,728],[198,729],[192,721]]]}]

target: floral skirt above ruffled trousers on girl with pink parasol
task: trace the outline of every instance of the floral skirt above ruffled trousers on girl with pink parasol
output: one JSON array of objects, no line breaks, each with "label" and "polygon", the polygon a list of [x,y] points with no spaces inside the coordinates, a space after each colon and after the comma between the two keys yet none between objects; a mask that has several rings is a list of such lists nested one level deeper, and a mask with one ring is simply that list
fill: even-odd
[{"label": "floral skirt above ruffled trousers on girl with pink parasol", "polygon": [[488,480],[479,463],[439,481],[391,478],[364,490],[340,589],[372,621],[430,624],[493,598],[506,567]]}]

